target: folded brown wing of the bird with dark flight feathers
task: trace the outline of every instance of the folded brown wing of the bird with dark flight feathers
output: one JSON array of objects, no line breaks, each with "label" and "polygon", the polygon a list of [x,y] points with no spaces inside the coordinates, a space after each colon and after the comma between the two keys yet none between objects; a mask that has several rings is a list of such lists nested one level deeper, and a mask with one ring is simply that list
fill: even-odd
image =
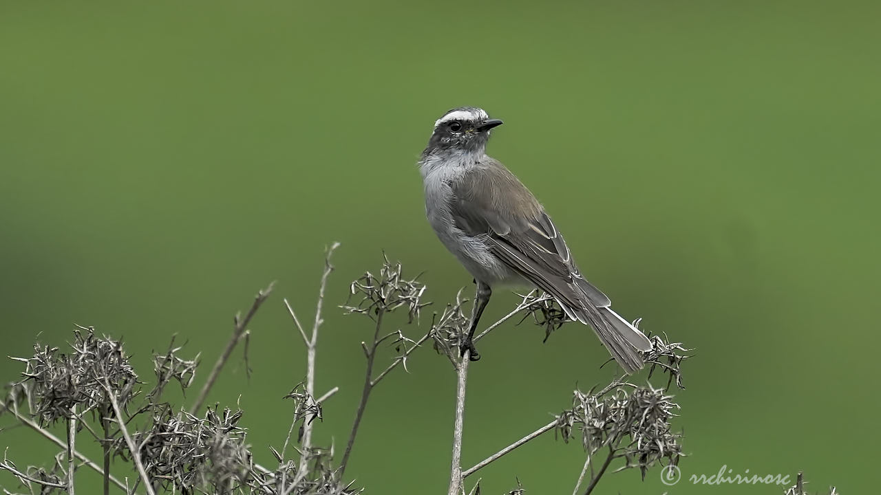
[{"label": "folded brown wing of the bird with dark flight feathers", "polygon": [[495,159],[451,183],[455,225],[475,236],[486,234],[492,253],[537,287],[573,308],[587,299],[609,307],[609,298],[581,277],[550,217],[529,189]]}]

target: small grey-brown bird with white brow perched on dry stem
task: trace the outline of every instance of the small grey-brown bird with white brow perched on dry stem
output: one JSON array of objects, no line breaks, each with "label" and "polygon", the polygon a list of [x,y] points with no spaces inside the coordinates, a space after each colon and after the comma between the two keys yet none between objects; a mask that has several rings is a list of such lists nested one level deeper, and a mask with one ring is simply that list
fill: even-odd
[{"label": "small grey-brown bird with white brow perched on dry stem", "polygon": [[473,337],[492,288],[531,286],[550,294],[569,320],[594,329],[618,365],[635,373],[651,341],[581,275],[536,196],[486,154],[490,132],[501,124],[482,108],[448,110],[434,122],[418,160],[428,223],[477,284],[462,355],[480,358]]}]

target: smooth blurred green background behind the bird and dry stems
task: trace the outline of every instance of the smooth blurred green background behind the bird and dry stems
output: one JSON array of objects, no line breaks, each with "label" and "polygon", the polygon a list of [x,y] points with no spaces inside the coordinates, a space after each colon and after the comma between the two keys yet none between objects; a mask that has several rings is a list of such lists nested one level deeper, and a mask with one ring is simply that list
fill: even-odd
[{"label": "smooth blurred green background behind the bird and dry stems", "polygon": [[[268,464],[289,425],[281,397],[305,373],[282,298],[311,319],[322,249],[339,240],[317,388],[341,390],[316,435],[342,447],[369,332],[335,307],[347,284],[385,250],[425,270],[437,309],[471,290],[426,223],[415,162],[434,119],[475,105],[505,120],[490,153],[618,312],[696,349],[678,393],[685,477],[804,469],[812,490],[867,492],[881,440],[879,15],[794,0],[3,1],[2,354],[28,355],[38,335],[61,345],[77,322],[144,366],[177,334],[202,352],[201,384],[234,312],[277,279],[250,327],[253,376],[236,351],[210,397],[241,404]],[[514,302],[494,298],[485,321]],[[588,329],[543,336],[510,324],[480,346],[466,465],[615,372],[598,369],[607,353]],[[4,360],[0,377],[19,369]],[[446,490],[455,377],[430,348],[410,371],[368,406],[346,474],[369,493]],[[0,447],[19,463],[52,452],[14,427]],[[527,493],[569,493],[581,462],[547,435],[479,476],[486,493],[515,476]],[[609,475],[598,491],[782,491],[659,475]]]}]

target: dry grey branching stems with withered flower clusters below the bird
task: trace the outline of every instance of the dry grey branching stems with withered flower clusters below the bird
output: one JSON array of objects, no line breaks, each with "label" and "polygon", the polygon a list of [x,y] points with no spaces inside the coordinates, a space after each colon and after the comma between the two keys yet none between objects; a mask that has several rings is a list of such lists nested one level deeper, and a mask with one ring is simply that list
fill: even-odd
[{"label": "dry grey branching stems with withered flower clusters below the bird", "polygon": [[[668,393],[682,387],[680,365],[686,358],[681,344],[653,336],[654,350],[646,360],[649,377],[667,375],[662,388],[638,386],[622,375],[602,388],[587,392],[575,390],[572,408],[541,425],[474,466],[461,462],[465,390],[469,359],[461,356],[459,344],[468,329],[463,313],[466,300],[461,292],[455,301],[433,314],[431,324],[419,330],[420,314],[429,306],[426,286],[417,278],[406,278],[399,263],[385,259],[377,274],[367,272],[352,282],[350,301],[343,306],[348,314],[370,321],[373,338],[361,343],[366,360],[364,387],[351,431],[342,455],[332,446],[317,446],[312,439],[320,425],[323,403],[337,388],[322,394],[315,390],[315,355],[322,328],[324,292],[333,270],[330,257],[337,244],[326,253],[324,270],[311,326],[304,325],[285,299],[292,326],[302,338],[306,351],[306,379],[292,387],[285,399],[292,403],[290,428],[279,435],[279,446],[263,447],[257,452],[248,445],[248,430],[240,425],[238,408],[204,407],[204,402],[233,349],[245,341],[248,321],[269,298],[272,285],[259,292],[244,317],[236,315],[226,348],[216,360],[203,388],[189,408],[167,403],[163,392],[173,381],[189,388],[196,376],[199,357],[181,357],[181,347],[174,341],[168,350],[153,356],[153,377],[147,383],[130,365],[122,343],[99,336],[92,328],[78,327],[70,350],[37,344],[31,358],[15,358],[24,366],[22,378],[11,383],[0,414],[13,417],[21,425],[54,443],[59,448],[55,459],[42,466],[21,467],[12,462],[10,448],[4,452],[0,470],[9,479],[0,478],[0,486],[12,482],[14,489],[4,493],[50,494],[66,491],[74,495],[78,469],[92,469],[103,477],[103,492],[152,495],[155,493],[217,493],[266,495],[347,495],[365,491],[347,482],[345,477],[352,448],[355,446],[361,418],[371,392],[389,373],[406,369],[413,352],[431,341],[435,351],[448,358],[451,376],[457,387],[453,417],[452,462],[449,495],[478,495],[480,482],[470,482],[480,469],[547,432],[562,440],[580,441],[584,449],[584,467],[574,473],[574,494],[589,494],[610,469],[646,470],[657,463],[677,463],[682,455],[679,435],[670,421],[679,409]],[[389,331],[383,319],[389,314],[408,316],[408,336],[402,330]],[[529,293],[509,314],[485,329],[479,340],[515,316],[530,319],[544,327],[549,335],[565,322],[565,314],[547,296]],[[356,337],[357,338],[357,337]],[[357,342],[357,340],[356,340]],[[389,345],[391,344],[391,345]],[[387,349],[395,353],[385,355]],[[279,404],[281,406],[281,404]],[[49,427],[62,423],[65,434],[56,436]],[[102,457],[87,458],[77,450],[81,441],[100,445]],[[258,463],[260,458],[263,464]],[[271,464],[268,462],[271,460]],[[528,479],[529,473],[520,473]],[[512,474],[514,478],[514,474]],[[799,478],[801,479],[801,478]],[[801,482],[800,482],[801,483]],[[509,494],[524,493],[518,486]],[[438,487],[437,491],[442,488]],[[802,495],[801,485],[787,492]]]}]

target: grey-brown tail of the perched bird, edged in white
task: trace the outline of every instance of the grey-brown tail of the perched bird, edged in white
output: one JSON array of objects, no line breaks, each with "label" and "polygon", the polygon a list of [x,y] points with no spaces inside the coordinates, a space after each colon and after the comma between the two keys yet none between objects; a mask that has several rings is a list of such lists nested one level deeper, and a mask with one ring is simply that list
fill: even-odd
[{"label": "grey-brown tail of the perched bird, edged in white", "polygon": [[642,369],[644,361],[638,351],[651,351],[652,344],[639,329],[622,318],[611,307],[585,305],[581,311],[573,312],[564,307],[574,320],[588,323],[596,332],[603,345],[627,373]]}]

